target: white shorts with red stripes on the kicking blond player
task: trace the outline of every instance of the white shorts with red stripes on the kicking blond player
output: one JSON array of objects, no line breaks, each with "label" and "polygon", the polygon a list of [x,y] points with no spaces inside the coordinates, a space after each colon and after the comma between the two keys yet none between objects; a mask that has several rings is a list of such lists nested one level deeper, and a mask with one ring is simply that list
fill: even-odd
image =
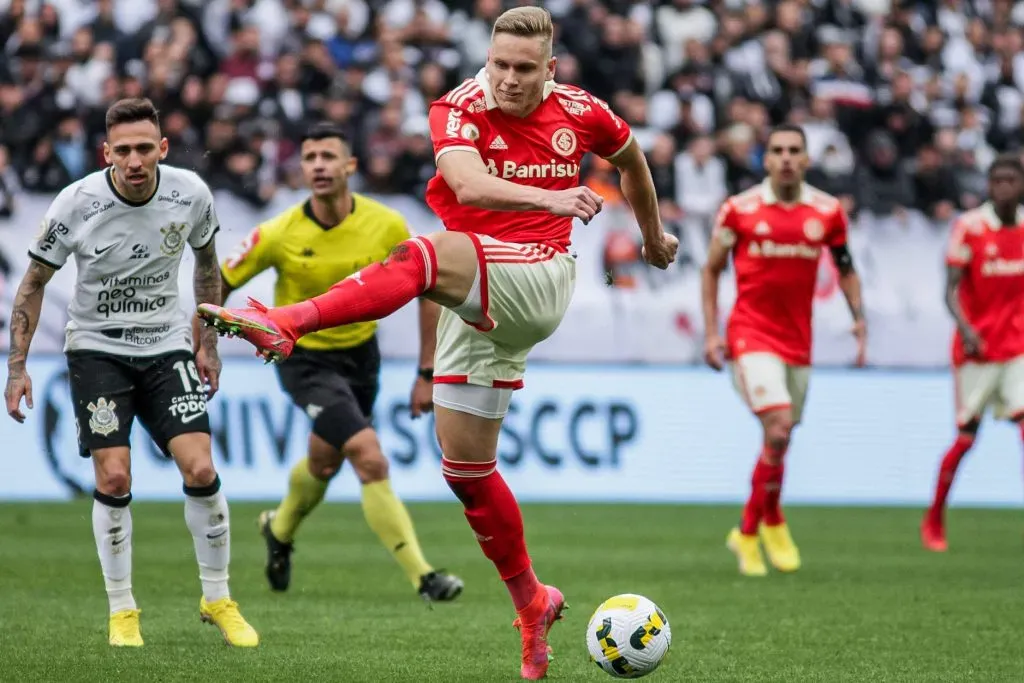
[{"label": "white shorts with red stripes on the kicking blond player", "polygon": [[520,389],[526,354],[558,328],[572,299],[575,259],[543,245],[467,234],[476,246],[477,282],[464,303],[441,309],[434,384]]}]

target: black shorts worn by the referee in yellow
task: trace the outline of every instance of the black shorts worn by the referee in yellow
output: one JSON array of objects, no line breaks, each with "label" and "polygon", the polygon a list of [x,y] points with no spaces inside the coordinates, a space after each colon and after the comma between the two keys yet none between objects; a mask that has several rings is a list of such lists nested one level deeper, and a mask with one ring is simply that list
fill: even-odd
[{"label": "black shorts worn by the referee in yellow", "polygon": [[[377,338],[335,351],[296,347],[275,366],[282,388],[313,421],[313,433],[341,449],[371,426],[380,390]],[[323,417],[322,417],[323,416]]]}]

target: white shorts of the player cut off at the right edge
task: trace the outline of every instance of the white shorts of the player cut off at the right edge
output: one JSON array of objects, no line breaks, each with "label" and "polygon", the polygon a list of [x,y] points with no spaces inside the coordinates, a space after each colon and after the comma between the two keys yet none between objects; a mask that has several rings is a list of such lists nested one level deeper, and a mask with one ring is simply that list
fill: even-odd
[{"label": "white shorts of the player cut off at the right edge", "polygon": [[1024,355],[1006,362],[968,362],[954,369],[956,425],[981,420],[992,409],[996,420],[1024,416]]}]

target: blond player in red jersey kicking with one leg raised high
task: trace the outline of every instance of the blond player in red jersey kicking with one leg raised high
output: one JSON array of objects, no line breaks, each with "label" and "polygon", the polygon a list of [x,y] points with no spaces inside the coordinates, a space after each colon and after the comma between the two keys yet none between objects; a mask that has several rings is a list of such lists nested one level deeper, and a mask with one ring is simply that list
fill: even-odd
[{"label": "blond player in red jersey kicking with one leg raised high", "polygon": [[544,9],[505,12],[485,68],[431,104],[437,174],[426,199],[446,230],[402,243],[306,302],[200,308],[222,332],[279,358],[309,332],[378,319],[419,296],[441,304],[433,399],[442,471],[512,596],[527,680],[547,672],[548,631],[564,598],[534,573],[519,506],[496,469],[498,436],[527,353],[569,304],[572,219],[586,223],[601,210],[602,199],[580,186],[584,155],[620,169],[648,263],[667,268],[678,247],[662,227],[650,170],[627,124],[602,100],[554,82],[552,32]]}]

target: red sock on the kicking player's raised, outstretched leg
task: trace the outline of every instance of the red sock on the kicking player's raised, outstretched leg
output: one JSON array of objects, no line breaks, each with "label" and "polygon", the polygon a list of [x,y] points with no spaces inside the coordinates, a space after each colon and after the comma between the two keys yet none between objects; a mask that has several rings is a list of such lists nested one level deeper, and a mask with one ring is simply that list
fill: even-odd
[{"label": "red sock on the kicking player's raised, outstretched leg", "polygon": [[372,263],[308,301],[274,308],[274,322],[291,328],[295,338],[317,330],[387,317],[437,282],[437,257],[425,238],[395,247],[380,263]]}]

